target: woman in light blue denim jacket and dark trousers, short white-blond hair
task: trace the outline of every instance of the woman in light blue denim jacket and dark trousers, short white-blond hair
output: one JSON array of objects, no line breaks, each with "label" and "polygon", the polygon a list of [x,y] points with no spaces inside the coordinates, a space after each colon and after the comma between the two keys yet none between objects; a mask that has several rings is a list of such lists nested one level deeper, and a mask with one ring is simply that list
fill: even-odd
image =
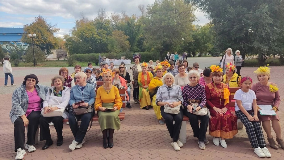
[{"label": "woman in light blue denim jacket and dark trousers, short white-blond hair", "polygon": [[[87,107],[93,110],[96,92],[94,86],[86,82],[87,75],[83,72],[75,74],[77,85],[71,89],[69,104],[71,106],[69,110],[69,125],[73,133],[74,140],[72,144],[69,145],[69,149],[72,151],[74,149],[81,148],[85,143],[84,137],[86,135],[90,120],[93,117],[94,111],[88,112],[82,115],[75,115],[73,111],[78,107]],[[82,103],[77,104],[76,102]],[[81,119],[80,127],[78,121]],[[79,127],[79,128],[78,128]]]}]

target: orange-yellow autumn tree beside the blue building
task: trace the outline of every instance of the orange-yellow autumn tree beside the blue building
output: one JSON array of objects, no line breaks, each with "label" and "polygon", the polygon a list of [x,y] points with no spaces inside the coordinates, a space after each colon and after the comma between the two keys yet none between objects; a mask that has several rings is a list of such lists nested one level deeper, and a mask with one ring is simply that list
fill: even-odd
[{"label": "orange-yellow autumn tree beside the blue building", "polygon": [[35,18],[31,24],[24,25],[24,32],[21,41],[32,45],[32,40],[28,34],[36,34],[34,38],[34,45],[38,46],[42,51],[45,52],[45,55],[51,54],[51,49],[54,49],[56,46],[56,37],[54,33],[58,32],[59,28],[56,28],[56,25],[48,24],[46,19],[41,15]]}]

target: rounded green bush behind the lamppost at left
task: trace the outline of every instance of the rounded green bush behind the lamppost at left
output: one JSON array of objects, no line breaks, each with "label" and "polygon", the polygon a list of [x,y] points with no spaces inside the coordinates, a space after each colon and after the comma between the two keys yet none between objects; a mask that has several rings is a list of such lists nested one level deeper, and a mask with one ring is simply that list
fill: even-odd
[{"label": "rounded green bush behind the lamppost at left", "polygon": [[[34,46],[34,51],[35,51],[35,62],[36,62],[36,64],[37,64],[37,62],[43,62],[45,60],[44,51],[42,51],[37,46]],[[33,63],[34,62],[32,46],[29,46],[29,48],[26,51],[25,62],[26,63]]]}]

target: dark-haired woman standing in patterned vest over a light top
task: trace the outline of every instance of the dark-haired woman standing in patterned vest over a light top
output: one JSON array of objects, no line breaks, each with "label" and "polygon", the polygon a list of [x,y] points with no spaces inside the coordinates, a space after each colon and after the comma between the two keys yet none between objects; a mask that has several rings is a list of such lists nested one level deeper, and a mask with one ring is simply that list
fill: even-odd
[{"label": "dark-haired woman standing in patterned vest over a light top", "polygon": [[138,85],[138,75],[142,72],[142,67],[140,65],[140,58],[138,56],[133,57],[134,65],[130,67],[130,79],[133,85],[133,99],[134,103],[139,103],[139,85]]}]

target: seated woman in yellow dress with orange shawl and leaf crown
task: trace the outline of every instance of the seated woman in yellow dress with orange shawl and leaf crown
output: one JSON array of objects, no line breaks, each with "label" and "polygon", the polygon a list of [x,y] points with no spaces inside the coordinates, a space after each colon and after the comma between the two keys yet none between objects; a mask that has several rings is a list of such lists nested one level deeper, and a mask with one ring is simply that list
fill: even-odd
[{"label": "seated woman in yellow dress with orange shawl and leaf crown", "polygon": [[140,108],[146,107],[146,110],[149,109],[151,105],[150,95],[149,95],[149,83],[153,78],[153,74],[147,71],[148,64],[143,62],[141,64],[142,72],[138,75],[138,84],[139,84],[139,102]]}]

